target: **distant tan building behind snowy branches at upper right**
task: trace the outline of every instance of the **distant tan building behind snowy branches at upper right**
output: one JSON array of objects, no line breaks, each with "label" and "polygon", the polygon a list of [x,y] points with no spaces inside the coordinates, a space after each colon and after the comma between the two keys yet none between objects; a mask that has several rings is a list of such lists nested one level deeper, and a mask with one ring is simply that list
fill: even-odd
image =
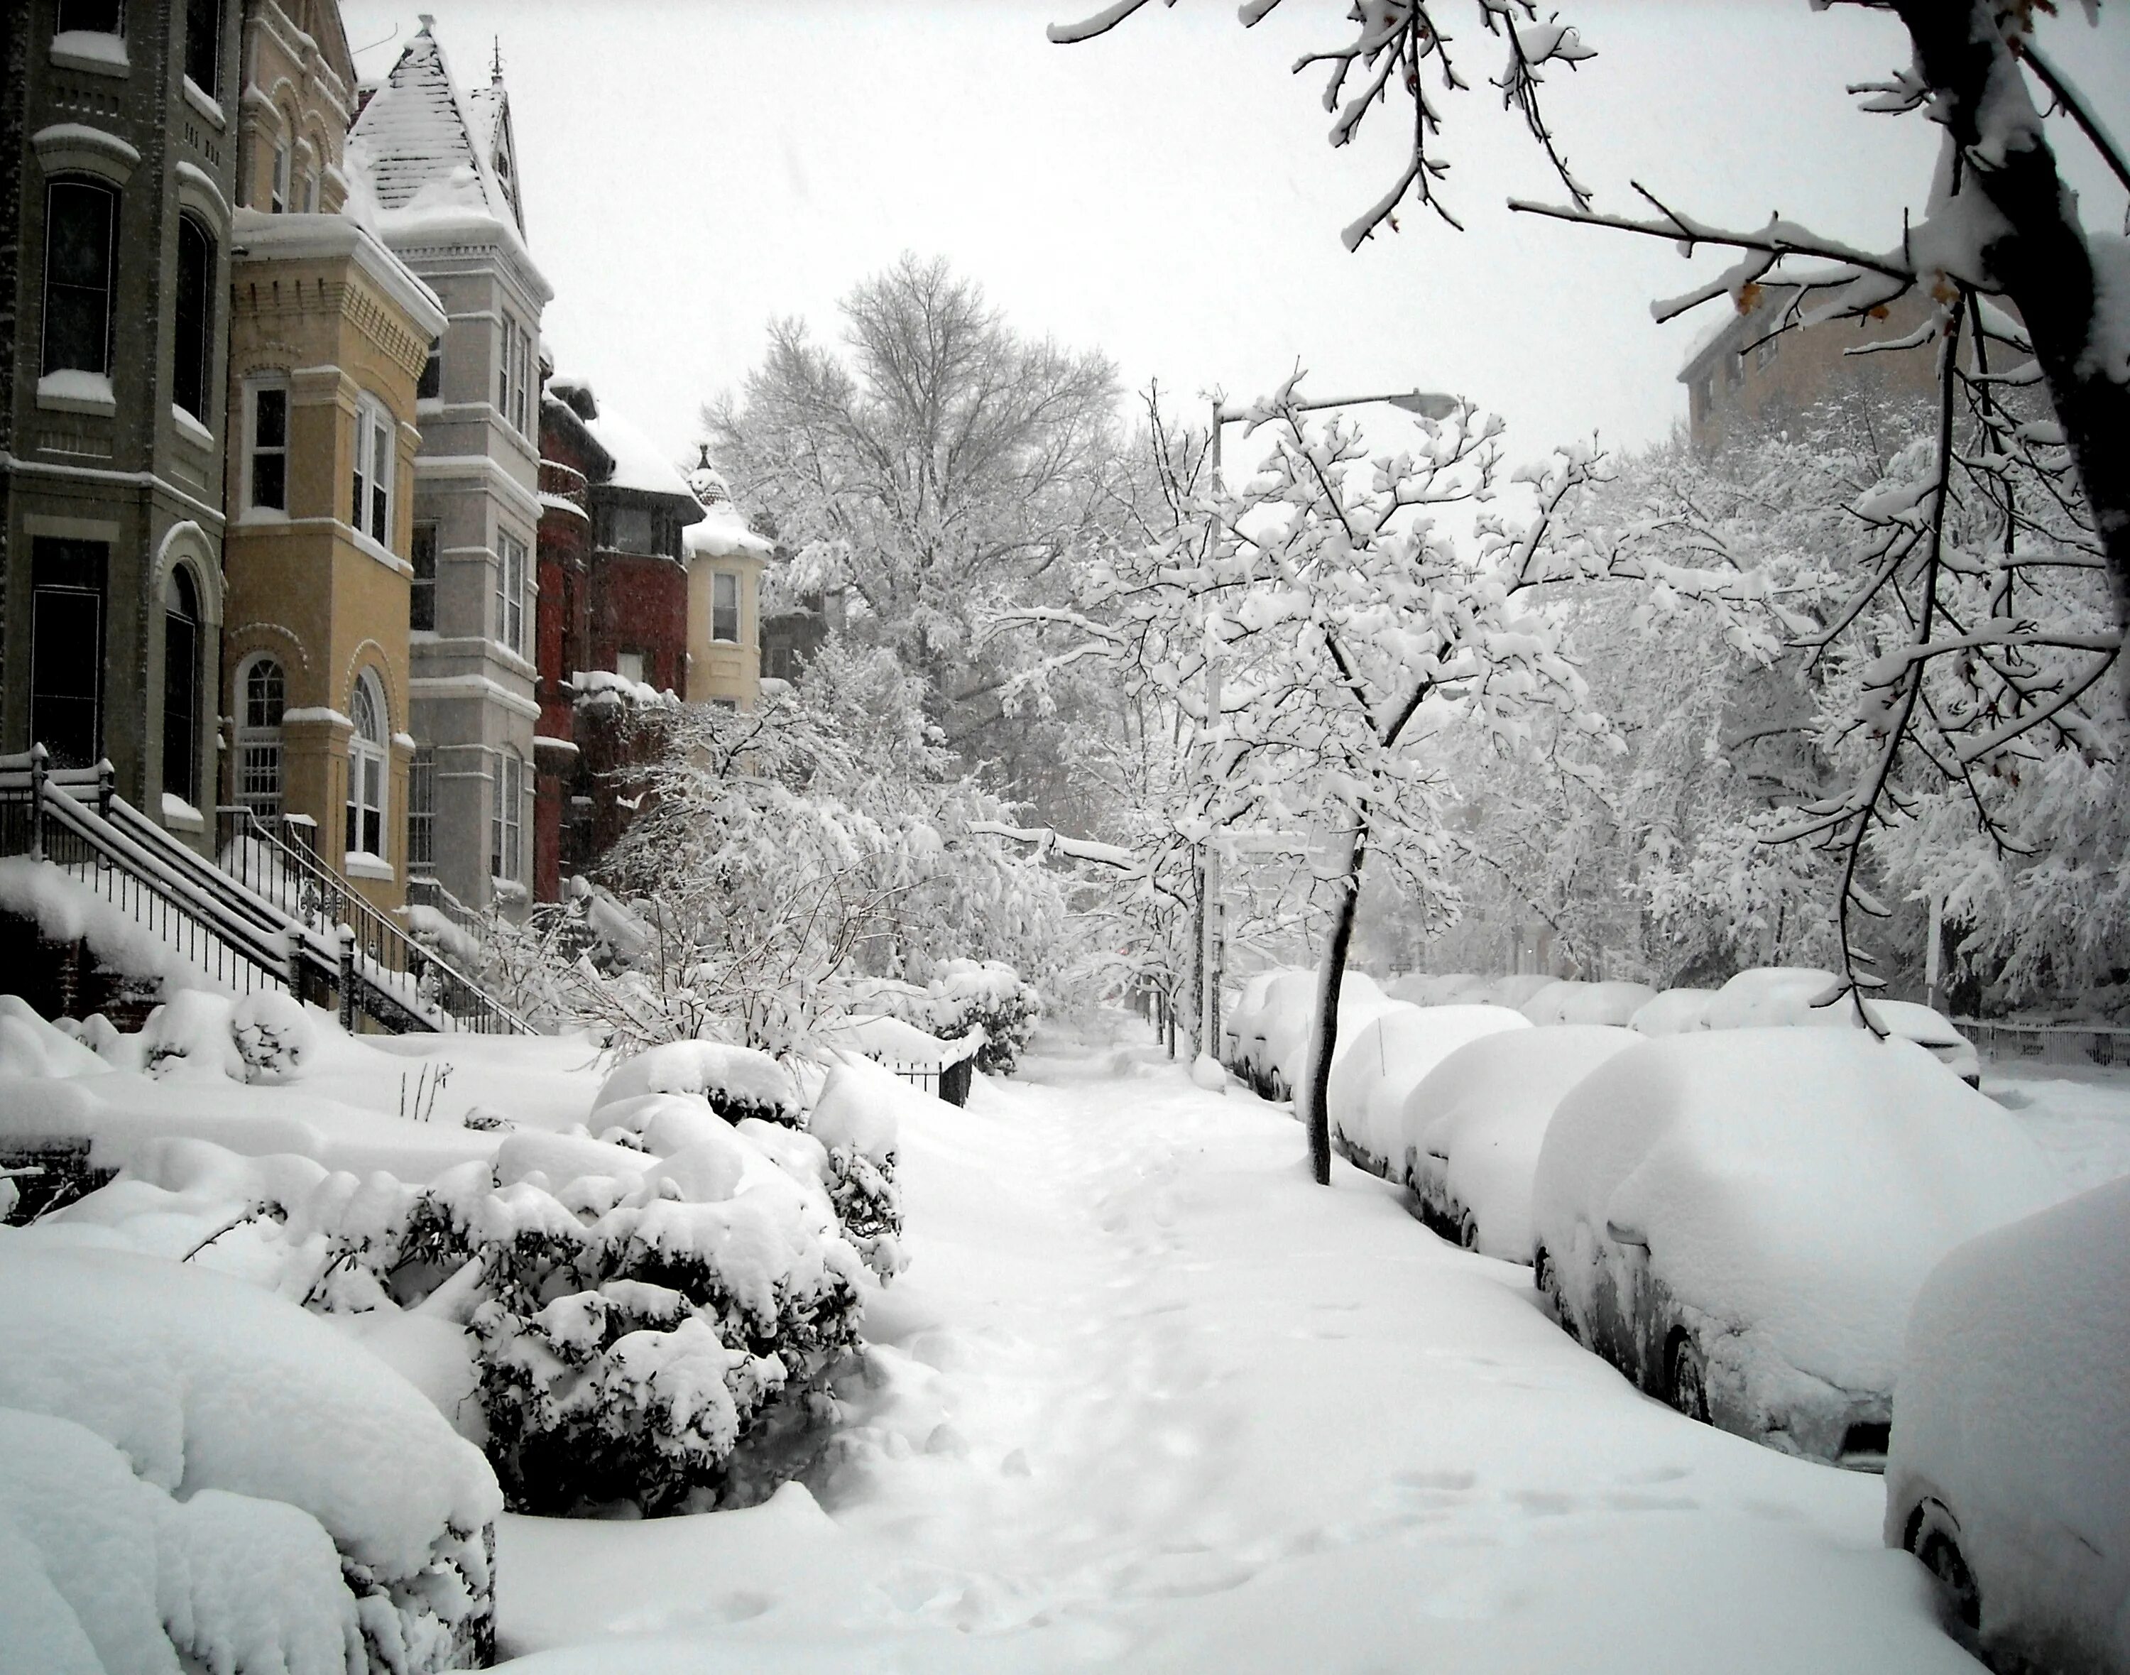
[{"label": "distant tan building behind snowy branches at upper right", "polygon": [[1889,303],[1885,320],[1830,320],[1770,335],[1791,296],[1791,286],[1757,290],[1753,307],[1732,311],[1706,330],[1681,367],[1687,435],[1704,454],[1738,437],[1781,428],[1838,394],[1926,401],[1936,390],[1932,349],[1851,354],[1921,326],[1932,309],[1928,296]]}]

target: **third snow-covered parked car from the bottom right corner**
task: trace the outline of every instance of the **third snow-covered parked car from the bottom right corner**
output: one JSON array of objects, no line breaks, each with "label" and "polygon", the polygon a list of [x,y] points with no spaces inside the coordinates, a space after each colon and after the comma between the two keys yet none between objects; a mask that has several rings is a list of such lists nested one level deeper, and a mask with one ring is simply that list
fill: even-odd
[{"label": "third snow-covered parked car from the bottom right corner", "polygon": [[1465,1042],[1406,1100],[1404,1174],[1421,1221],[1468,1251],[1531,1259],[1531,1176],[1553,1108],[1640,1038],[1600,1023]]}]

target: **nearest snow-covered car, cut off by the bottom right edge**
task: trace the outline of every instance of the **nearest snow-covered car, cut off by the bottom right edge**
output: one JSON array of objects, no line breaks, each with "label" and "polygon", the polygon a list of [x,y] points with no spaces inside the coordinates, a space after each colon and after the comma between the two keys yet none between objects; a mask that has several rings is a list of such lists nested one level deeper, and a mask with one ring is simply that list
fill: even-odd
[{"label": "nearest snow-covered car, cut off by the bottom right edge", "polygon": [[1996,1669],[2130,1671],[2130,1178],[1923,1281],[1885,1541],[1930,1566]]}]

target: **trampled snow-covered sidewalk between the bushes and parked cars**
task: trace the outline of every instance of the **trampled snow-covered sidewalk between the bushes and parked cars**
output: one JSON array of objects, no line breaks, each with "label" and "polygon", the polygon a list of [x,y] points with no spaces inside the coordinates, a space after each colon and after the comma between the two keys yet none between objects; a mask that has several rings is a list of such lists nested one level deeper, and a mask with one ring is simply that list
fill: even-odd
[{"label": "trampled snow-covered sidewalk between the bushes and parked cars", "polygon": [[1636,1394],[1380,1181],[1144,1048],[903,1134],[812,1490],[507,1519],[526,1671],[1972,1671],[1874,1477]]}]

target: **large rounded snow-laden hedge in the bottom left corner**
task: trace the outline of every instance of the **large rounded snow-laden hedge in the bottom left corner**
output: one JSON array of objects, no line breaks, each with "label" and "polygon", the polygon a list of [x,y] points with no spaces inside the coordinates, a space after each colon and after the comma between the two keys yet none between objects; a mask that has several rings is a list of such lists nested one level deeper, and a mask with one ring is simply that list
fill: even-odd
[{"label": "large rounded snow-laden hedge in the bottom left corner", "polygon": [[[34,1345],[0,1360],[0,1411],[43,1445],[0,1445],[0,1524],[17,1554],[28,1534],[98,1654],[100,1635],[160,1620],[211,1669],[486,1656],[494,1475],[326,1321],[40,1227],[0,1236],[0,1338]],[[64,1630],[49,1598],[43,1615]],[[143,1649],[111,1666],[177,1666]]]}]

